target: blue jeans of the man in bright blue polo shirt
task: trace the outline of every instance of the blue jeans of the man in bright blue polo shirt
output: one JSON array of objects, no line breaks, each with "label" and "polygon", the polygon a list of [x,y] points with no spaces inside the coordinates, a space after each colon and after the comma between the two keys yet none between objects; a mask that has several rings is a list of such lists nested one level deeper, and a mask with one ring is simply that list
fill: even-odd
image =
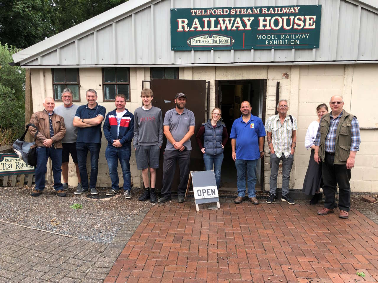
[{"label": "blue jeans of the man in bright blue polo shirt", "polygon": [[237,170],[237,195],[245,197],[245,171],[247,171],[248,197],[256,197],[256,166],[259,159],[243,160],[236,159],[235,166]]}]

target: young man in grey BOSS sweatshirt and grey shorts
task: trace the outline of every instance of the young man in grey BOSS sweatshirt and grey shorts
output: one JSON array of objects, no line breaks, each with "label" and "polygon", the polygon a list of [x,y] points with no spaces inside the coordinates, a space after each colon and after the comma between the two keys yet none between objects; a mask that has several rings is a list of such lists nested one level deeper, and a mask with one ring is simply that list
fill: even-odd
[{"label": "young man in grey BOSS sweatshirt and grey shorts", "polygon": [[[156,168],[159,168],[160,148],[163,145],[163,115],[161,109],[152,106],[153,92],[146,88],[141,92],[143,106],[134,112],[134,149],[138,170],[142,170],[145,191],[140,201],[156,202]],[[148,178],[150,169],[151,180]],[[151,186],[150,186],[151,181]]]}]

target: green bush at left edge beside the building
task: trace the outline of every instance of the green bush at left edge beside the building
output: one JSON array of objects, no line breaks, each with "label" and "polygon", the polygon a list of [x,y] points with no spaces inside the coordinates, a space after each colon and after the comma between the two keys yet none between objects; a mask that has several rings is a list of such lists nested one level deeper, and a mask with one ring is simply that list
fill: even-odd
[{"label": "green bush at left edge beside the building", "polygon": [[14,139],[25,131],[25,69],[8,64],[18,51],[0,43],[0,134],[10,131]]}]

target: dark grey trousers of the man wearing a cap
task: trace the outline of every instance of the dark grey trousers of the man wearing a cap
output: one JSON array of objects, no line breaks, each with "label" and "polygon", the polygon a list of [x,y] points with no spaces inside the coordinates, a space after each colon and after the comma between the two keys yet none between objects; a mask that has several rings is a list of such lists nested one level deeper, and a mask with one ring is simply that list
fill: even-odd
[{"label": "dark grey trousers of the man wearing a cap", "polygon": [[164,151],[163,161],[163,187],[160,194],[168,196],[171,194],[171,186],[176,171],[176,161],[180,168],[180,184],[177,187],[177,194],[184,196],[189,178],[190,150],[166,150]]}]

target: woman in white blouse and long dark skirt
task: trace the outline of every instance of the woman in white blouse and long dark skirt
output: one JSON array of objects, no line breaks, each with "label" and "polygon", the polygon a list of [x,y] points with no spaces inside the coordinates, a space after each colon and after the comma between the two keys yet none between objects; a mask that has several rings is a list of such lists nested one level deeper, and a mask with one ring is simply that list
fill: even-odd
[{"label": "woman in white blouse and long dark skirt", "polygon": [[322,181],[322,164],[321,162],[316,163],[314,161],[315,153],[315,138],[316,133],[318,132],[320,119],[324,114],[328,113],[328,107],[325,103],[322,103],[316,107],[316,114],[318,114],[318,120],[315,120],[310,123],[308,126],[306,137],[305,137],[305,147],[307,149],[311,148],[310,161],[308,161],[308,168],[303,182],[302,191],[306,195],[313,195],[313,198],[310,200],[310,205],[315,205],[321,200],[322,195],[319,193],[321,186],[323,185]]}]

